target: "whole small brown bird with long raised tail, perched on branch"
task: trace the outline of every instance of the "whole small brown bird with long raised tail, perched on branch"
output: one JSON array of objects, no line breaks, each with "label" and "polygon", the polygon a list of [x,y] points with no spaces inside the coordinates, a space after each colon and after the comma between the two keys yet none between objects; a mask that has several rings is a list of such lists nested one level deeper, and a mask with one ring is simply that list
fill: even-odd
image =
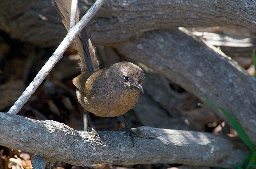
[{"label": "whole small brown bird with long raised tail, perched on branch", "polygon": [[[70,26],[70,1],[55,0],[62,22],[66,29]],[[80,11],[77,7],[77,16]],[[80,56],[78,62],[81,74],[75,77],[72,82],[76,86],[78,102],[84,109],[94,138],[102,144],[103,137],[92,124],[89,112],[100,117],[120,116],[125,124],[127,136],[131,136],[134,146],[134,132],[123,114],[132,109],[138,99],[140,92],[144,93],[143,81],[144,71],[132,62],[117,62],[108,68],[100,69],[100,63],[95,55],[95,48],[88,38],[87,32],[83,29],[74,40],[77,53]]]}]

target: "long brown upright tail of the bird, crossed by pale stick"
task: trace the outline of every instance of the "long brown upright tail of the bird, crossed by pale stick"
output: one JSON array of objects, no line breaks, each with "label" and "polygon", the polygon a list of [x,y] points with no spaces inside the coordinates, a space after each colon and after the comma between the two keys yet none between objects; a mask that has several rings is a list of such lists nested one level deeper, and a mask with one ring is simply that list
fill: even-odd
[{"label": "long brown upright tail of the bird, crossed by pale stick", "polygon": [[[68,30],[70,27],[70,14],[71,14],[71,1],[70,0],[54,0],[58,8],[62,22],[65,28]],[[80,10],[77,7],[76,11],[76,23],[80,19]],[[95,48],[92,46],[91,40],[88,38],[85,28],[78,34],[76,39],[73,41],[80,61],[78,65],[81,69],[81,73],[88,71],[95,71],[100,68],[100,63],[95,55]]]}]

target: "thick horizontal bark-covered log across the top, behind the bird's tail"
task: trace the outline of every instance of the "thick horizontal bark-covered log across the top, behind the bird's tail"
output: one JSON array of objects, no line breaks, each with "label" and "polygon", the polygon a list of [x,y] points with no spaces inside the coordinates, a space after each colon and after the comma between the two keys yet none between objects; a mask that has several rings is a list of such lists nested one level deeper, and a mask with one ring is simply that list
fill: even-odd
[{"label": "thick horizontal bark-covered log across the top, behind the bird's tail", "polygon": [[[1,30],[41,47],[66,35],[53,1],[0,1]],[[84,15],[92,4],[79,3]],[[92,43],[108,45],[134,40],[147,31],[170,27],[229,26],[255,31],[253,0],[107,1],[87,26]]]}]

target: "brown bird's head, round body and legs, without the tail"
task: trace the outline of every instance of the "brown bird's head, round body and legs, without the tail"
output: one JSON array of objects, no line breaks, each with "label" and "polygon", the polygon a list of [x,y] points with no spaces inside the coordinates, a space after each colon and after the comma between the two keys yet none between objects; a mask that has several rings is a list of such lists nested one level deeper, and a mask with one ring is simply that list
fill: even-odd
[{"label": "brown bird's head, round body and legs, without the tail", "polygon": [[[131,136],[133,143],[133,134],[136,133],[122,115],[135,106],[140,92],[144,93],[144,79],[144,72],[139,66],[118,62],[108,68],[82,73],[73,79],[73,84],[78,89],[78,102],[85,110],[100,117],[121,116],[126,134]],[[88,120],[92,133],[101,143],[102,136],[92,125],[89,115]]]}]

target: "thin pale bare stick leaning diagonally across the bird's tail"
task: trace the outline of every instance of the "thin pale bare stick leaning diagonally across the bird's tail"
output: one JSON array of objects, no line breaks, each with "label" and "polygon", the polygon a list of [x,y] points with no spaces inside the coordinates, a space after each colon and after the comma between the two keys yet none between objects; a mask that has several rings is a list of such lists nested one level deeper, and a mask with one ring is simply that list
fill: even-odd
[{"label": "thin pale bare stick leaning diagonally across the bird's tail", "polygon": [[45,63],[43,68],[38,72],[34,80],[28,85],[27,89],[21,94],[20,98],[14,103],[14,105],[10,108],[8,113],[17,114],[21,107],[28,101],[31,95],[36,91],[38,86],[43,82],[44,78],[49,74],[54,65],[60,60],[63,56],[63,53],[72,43],[72,41],[76,38],[79,32],[84,28],[84,26],[92,19],[95,13],[100,9],[101,5],[105,2],[105,0],[97,0],[89,11],[81,18],[81,20],[67,33],[67,36],[60,43],[60,46],[55,50],[50,59]]}]

